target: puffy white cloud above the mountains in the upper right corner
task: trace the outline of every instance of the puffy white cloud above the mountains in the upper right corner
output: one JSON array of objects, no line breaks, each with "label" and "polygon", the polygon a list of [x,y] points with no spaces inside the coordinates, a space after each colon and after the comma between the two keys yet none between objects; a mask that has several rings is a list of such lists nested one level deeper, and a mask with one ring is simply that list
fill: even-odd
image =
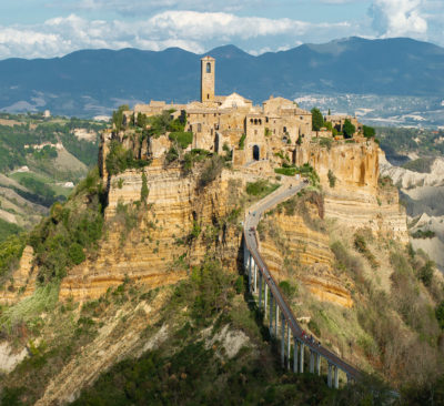
[{"label": "puffy white cloud above the mountains in the upper right corner", "polygon": [[382,38],[427,37],[424,0],[374,0],[371,7],[373,28]]}]

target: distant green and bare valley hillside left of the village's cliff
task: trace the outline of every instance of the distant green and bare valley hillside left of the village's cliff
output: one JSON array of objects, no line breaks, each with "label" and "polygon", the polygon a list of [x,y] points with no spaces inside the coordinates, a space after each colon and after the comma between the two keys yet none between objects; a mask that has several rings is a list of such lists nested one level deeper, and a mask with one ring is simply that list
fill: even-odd
[{"label": "distant green and bare valley hillside left of the village's cliff", "polygon": [[97,162],[101,128],[77,119],[1,114],[1,240],[30,230],[56,201],[67,200]]}]

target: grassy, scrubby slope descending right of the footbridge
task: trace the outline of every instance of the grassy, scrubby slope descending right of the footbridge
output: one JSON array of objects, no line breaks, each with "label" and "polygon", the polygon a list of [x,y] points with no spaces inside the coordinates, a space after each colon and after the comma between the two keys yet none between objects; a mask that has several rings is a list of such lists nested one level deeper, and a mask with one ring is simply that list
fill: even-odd
[{"label": "grassy, scrubby slope descending right of the footbridge", "polygon": [[313,219],[304,204],[300,197],[293,207],[283,206],[282,212],[299,212],[309,229],[330,234],[336,260],[333,272],[354,301],[350,309],[320,302],[299,284],[297,275],[310,275],[312,271],[289,252],[283,231],[273,217],[266,219],[258,230],[292,260],[292,266],[286,267],[287,282],[296,286],[289,300],[296,314],[311,317],[306,329],[394,386],[422,385],[442,375],[444,332],[435,308],[444,300],[444,285],[437,272],[427,274],[426,256],[394,241],[376,238],[366,230],[356,234],[333,221]]}]

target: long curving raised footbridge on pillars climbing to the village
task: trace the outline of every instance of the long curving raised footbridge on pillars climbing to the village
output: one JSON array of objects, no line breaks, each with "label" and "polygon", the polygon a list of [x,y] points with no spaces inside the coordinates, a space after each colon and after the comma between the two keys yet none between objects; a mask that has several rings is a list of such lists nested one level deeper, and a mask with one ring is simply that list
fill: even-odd
[{"label": "long curving raised footbridge on pillars climbing to the village", "polygon": [[340,373],[344,374],[344,380],[349,383],[356,380],[360,372],[320,345],[317,341],[311,341],[303,335],[291,307],[259,252],[256,225],[261,215],[305,186],[304,182],[283,185],[251,207],[243,229],[243,265],[249,278],[249,291],[258,301],[259,309],[264,313],[270,335],[280,341],[282,367],[287,369],[292,367],[294,373],[303,373],[304,357],[307,355],[310,373],[321,375],[322,367],[326,367],[329,387],[339,388]]}]

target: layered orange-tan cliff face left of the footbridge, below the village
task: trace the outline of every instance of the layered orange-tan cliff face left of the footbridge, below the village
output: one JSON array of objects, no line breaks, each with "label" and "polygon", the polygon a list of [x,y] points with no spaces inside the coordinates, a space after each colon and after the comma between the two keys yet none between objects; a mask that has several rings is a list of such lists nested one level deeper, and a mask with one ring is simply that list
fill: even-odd
[{"label": "layered orange-tan cliff face left of the footbridge, below the village", "polygon": [[183,176],[180,168],[164,169],[154,161],[144,171],[145,204],[140,203],[141,171],[111,176],[107,231],[97,257],[69,271],[61,298],[97,298],[125,277],[152,287],[173,284],[210,251],[228,268],[236,268],[242,235],[235,210],[242,179],[224,171],[200,189],[199,174]]}]

